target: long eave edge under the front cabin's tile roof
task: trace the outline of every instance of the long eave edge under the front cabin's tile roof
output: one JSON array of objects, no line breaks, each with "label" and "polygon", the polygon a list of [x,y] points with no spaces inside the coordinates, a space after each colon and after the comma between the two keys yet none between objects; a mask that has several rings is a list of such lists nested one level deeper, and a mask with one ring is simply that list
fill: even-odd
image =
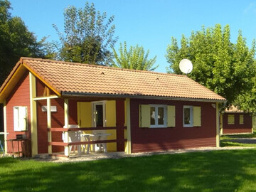
[{"label": "long eave edge under the front cabin's tile roof", "polygon": [[154,100],[180,100],[193,102],[226,102],[227,100],[188,98],[188,97],[162,97],[153,95],[123,95],[107,93],[90,93],[90,92],[62,92],[63,97],[114,97],[114,98],[137,98],[137,99],[154,99]]}]

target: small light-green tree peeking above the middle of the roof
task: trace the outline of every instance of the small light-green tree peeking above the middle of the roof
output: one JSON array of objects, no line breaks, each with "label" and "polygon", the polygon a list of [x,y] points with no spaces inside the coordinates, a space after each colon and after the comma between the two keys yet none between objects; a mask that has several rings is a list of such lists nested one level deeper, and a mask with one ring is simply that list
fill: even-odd
[{"label": "small light-green tree peeking above the middle of the roof", "polygon": [[112,65],[117,68],[127,68],[134,70],[155,70],[159,66],[156,65],[155,67],[153,67],[154,63],[156,63],[156,56],[152,59],[148,59],[149,50],[147,50],[145,54],[144,48],[142,46],[131,46],[128,51],[127,43],[124,41],[124,48],[122,46],[122,43],[120,43],[119,55],[117,54],[117,51],[114,50],[114,48],[113,52],[116,62],[113,61]]}]

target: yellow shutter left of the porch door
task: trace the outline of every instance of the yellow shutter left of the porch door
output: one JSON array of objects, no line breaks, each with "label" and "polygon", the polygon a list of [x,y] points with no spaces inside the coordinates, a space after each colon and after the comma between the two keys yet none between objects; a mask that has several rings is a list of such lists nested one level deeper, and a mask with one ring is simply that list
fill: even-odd
[{"label": "yellow shutter left of the porch door", "polygon": [[78,102],[78,125],[79,127],[92,127],[91,102]]}]

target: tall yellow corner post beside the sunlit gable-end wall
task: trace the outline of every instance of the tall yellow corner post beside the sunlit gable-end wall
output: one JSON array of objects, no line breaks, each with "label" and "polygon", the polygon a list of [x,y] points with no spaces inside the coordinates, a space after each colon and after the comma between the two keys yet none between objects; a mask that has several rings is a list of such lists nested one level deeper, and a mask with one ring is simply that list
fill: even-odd
[{"label": "tall yellow corner post beside the sunlit gable-end wall", "polygon": [[31,156],[38,154],[38,135],[37,135],[37,118],[36,118],[36,77],[29,73],[30,89],[30,107],[31,107]]}]

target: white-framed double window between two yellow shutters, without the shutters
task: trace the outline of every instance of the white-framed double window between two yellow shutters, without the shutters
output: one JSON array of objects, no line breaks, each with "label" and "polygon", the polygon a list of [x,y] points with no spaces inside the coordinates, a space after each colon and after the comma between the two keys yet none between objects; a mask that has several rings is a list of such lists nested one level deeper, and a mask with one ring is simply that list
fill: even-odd
[{"label": "white-framed double window between two yellow shutters, without the shutters", "polygon": [[150,127],[166,127],[166,105],[150,105]]}]

